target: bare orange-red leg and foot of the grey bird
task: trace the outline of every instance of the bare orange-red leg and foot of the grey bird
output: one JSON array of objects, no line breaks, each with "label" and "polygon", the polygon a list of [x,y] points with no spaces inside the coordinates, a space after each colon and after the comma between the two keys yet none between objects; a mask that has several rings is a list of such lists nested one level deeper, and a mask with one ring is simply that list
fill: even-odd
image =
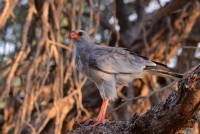
[{"label": "bare orange-red leg and foot of the grey bird", "polygon": [[108,107],[108,102],[109,102],[108,99],[103,100],[99,115],[97,116],[96,119],[94,119],[94,126],[97,126],[101,123],[104,124],[106,122],[105,115],[106,115],[106,110],[107,110],[107,107]]}]

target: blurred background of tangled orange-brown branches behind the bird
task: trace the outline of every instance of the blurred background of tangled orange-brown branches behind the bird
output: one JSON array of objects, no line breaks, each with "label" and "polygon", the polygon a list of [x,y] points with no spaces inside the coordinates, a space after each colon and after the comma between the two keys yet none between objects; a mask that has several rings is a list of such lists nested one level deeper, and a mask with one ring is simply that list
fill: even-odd
[{"label": "blurred background of tangled orange-brown branches behind the bird", "polygon": [[[97,116],[99,92],[73,62],[75,29],[179,73],[200,63],[199,0],[0,0],[1,133],[66,133]],[[107,118],[142,114],[176,85],[148,75],[119,86]],[[200,123],[187,132],[200,133]]]}]

